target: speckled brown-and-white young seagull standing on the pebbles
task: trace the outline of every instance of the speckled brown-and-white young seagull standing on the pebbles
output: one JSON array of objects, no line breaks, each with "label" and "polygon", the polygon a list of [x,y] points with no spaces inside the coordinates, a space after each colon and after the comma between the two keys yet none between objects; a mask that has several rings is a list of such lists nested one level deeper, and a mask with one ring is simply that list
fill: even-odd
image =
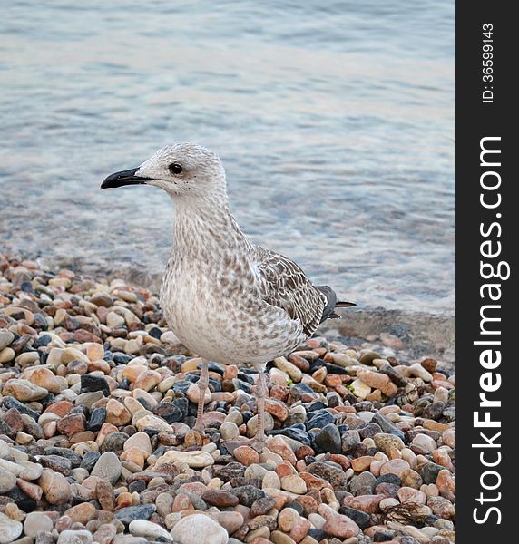
[{"label": "speckled brown-and-white young seagull standing on the pebbles", "polygon": [[328,286],[314,286],[289,258],[252,244],[230,212],[219,157],[193,143],[163,147],[138,168],[108,176],[101,189],[152,185],[174,203],[171,257],[160,302],[181,343],[202,358],[193,430],[204,435],[204,394],[209,362],[252,365],[258,426],[250,445],[265,445],[266,364],[289,355],[328,318],[338,302]]}]

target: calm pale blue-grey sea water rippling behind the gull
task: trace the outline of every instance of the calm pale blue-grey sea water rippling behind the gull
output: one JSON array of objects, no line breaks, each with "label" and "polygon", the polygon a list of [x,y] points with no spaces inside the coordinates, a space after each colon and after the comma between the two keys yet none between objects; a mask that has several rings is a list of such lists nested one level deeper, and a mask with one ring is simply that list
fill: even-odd
[{"label": "calm pale blue-grey sea water rippling behind the gull", "polygon": [[250,237],[359,306],[454,313],[454,2],[2,2],[0,251],[156,275],[171,141]]}]

